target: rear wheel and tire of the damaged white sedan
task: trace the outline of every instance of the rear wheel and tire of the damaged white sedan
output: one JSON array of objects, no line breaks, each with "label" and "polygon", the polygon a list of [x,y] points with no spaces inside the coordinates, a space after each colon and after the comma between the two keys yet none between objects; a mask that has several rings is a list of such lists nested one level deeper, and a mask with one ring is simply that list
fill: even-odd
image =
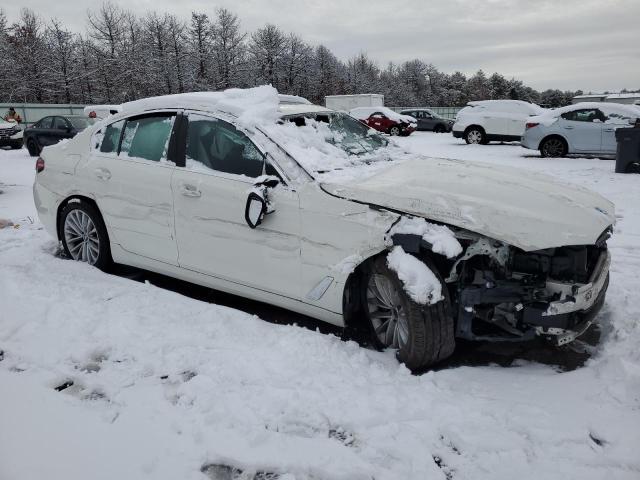
[{"label": "rear wheel and tire of the damaged white sedan", "polygon": [[109,235],[98,210],[86,202],[69,202],[60,214],[60,239],[69,258],[100,270],[111,265]]}]

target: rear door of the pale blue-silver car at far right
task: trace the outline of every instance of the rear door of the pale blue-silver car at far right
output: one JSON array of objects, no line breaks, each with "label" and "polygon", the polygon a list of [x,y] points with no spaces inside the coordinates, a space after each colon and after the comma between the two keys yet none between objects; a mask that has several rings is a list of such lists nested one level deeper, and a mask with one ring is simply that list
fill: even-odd
[{"label": "rear door of the pale blue-silver car at far right", "polygon": [[558,120],[558,127],[569,141],[571,151],[600,152],[604,115],[597,108],[585,108],[565,112]]}]

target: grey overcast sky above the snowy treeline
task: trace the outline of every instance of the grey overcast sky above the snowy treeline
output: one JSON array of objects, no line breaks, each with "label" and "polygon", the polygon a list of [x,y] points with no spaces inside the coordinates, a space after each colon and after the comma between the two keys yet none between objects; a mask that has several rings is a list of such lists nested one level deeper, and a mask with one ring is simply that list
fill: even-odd
[{"label": "grey overcast sky above the snowy treeline", "polygon": [[[5,2],[3,2],[5,3]],[[3,6],[9,21],[28,7],[83,31],[86,10],[102,0],[20,0]],[[192,10],[237,13],[246,31],[274,23],[339,58],[364,51],[381,67],[419,58],[440,70],[482,68],[536,89],[617,91],[640,88],[640,0],[116,0],[137,14]]]}]

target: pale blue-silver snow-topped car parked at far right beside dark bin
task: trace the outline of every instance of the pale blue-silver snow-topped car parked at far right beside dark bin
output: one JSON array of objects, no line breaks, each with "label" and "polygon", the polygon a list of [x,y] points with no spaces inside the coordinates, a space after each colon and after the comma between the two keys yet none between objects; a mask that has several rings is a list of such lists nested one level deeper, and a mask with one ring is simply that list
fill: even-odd
[{"label": "pale blue-silver snow-topped car parked at far right beside dark bin", "polygon": [[543,157],[615,155],[616,130],[634,125],[640,106],[583,102],[530,117],[521,144]]}]

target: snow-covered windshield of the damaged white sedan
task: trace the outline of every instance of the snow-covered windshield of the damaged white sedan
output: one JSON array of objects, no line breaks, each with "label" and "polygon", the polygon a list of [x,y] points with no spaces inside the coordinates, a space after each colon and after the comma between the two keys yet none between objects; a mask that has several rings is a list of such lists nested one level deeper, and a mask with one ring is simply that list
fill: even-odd
[{"label": "snow-covered windshield of the damaged white sedan", "polygon": [[265,131],[315,178],[350,167],[386,164],[405,154],[382,135],[340,112],[286,116]]}]

